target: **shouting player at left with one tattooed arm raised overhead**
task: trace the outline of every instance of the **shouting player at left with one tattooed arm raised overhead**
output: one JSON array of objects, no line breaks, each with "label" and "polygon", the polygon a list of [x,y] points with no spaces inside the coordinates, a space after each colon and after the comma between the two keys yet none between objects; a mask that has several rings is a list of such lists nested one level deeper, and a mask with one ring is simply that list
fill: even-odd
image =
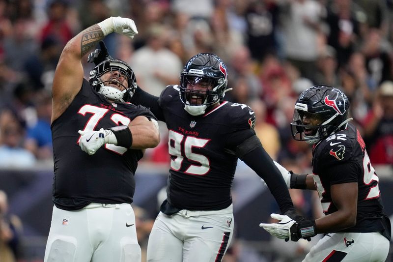
[{"label": "shouting player at left with one tattooed arm raised overhead", "polygon": [[[157,146],[156,118],[128,103],[137,88],[124,61],[106,59],[84,79],[82,58],[107,34],[130,38],[132,20],[111,17],[71,39],[53,81],[53,207],[45,262],[140,262],[131,207],[143,149]],[[82,149],[82,150],[81,150]]]}]

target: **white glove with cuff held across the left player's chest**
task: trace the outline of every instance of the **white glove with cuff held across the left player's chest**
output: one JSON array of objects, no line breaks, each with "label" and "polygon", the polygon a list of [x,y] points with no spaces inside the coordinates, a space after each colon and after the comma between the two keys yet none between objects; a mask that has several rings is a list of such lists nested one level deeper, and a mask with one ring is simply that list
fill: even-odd
[{"label": "white glove with cuff held across the left player's chest", "polygon": [[82,136],[79,141],[79,146],[82,151],[89,155],[94,154],[101,146],[105,144],[117,144],[117,139],[111,130],[104,130],[101,128],[99,131],[83,131],[79,130],[78,133]]}]

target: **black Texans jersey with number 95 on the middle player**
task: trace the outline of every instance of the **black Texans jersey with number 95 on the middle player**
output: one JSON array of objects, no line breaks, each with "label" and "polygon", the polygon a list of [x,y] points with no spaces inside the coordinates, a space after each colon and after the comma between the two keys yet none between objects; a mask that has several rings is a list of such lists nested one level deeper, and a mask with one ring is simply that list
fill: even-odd
[{"label": "black Texans jersey with number 95 on the middle player", "polygon": [[191,116],[184,110],[178,86],[168,86],[159,105],[169,130],[169,204],[188,210],[229,206],[238,159],[231,137],[244,130],[254,134],[254,112],[246,105],[222,101],[202,116]]}]

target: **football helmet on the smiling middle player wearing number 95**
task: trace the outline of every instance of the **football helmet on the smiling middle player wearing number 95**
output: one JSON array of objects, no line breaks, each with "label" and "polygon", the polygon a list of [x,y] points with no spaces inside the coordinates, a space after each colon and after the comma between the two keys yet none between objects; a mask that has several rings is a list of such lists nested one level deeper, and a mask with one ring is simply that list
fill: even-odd
[{"label": "football helmet on the smiling middle player wearing number 95", "polygon": [[[206,87],[195,90],[189,85]],[[224,98],[228,74],[223,60],[214,54],[200,53],[192,57],[180,73],[180,99],[184,110],[192,116],[205,113],[207,107]],[[212,87],[210,90],[208,87]]]}]

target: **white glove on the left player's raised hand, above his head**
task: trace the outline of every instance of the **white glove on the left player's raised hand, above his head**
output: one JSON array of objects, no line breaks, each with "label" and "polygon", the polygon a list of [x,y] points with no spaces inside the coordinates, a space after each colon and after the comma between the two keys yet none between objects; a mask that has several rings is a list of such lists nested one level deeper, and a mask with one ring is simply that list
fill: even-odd
[{"label": "white glove on the left player's raised hand, above his head", "polygon": [[119,34],[123,34],[130,39],[133,39],[134,35],[138,33],[137,26],[135,25],[134,20],[120,16],[111,16],[110,18],[105,19],[97,25],[101,28],[105,36],[112,32],[116,32]]}]

